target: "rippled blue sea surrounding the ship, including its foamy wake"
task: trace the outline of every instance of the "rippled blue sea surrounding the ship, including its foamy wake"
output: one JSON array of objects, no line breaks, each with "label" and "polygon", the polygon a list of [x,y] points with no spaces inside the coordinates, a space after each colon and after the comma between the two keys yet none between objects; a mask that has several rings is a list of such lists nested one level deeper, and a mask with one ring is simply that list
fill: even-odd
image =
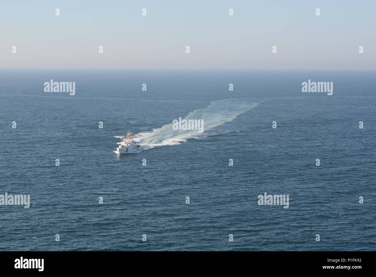
[{"label": "rippled blue sea surrounding the ship, including its foamy wake", "polygon": [[[31,204],[0,205],[0,250],[375,250],[374,76],[2,70],[0,194]],[[50,79],[76,94],[44,92]],[[303,93],[308,79],[333,95]],[[179,117],[204,132],[173,130]],[[143,151],[119,156],[128,129]],[[265,192],[288,209],[258,205]]]}]

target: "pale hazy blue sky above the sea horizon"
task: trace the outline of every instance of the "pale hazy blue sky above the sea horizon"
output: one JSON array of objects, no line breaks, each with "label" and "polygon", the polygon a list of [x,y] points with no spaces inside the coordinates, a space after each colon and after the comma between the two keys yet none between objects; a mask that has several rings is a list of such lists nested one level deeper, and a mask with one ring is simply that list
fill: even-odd
[{"label": "pale hazy blue sky above the sea horizon", "polygon": [[1,68],[376,69],[374,0],[4,2]]}]

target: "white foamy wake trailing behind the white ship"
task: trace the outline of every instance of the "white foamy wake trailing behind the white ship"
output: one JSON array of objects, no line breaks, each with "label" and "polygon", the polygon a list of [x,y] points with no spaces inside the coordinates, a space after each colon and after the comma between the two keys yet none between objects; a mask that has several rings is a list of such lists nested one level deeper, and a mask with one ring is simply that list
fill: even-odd
[{"label": "white foamy wake trailing behind the white ship", "polygon": [[[173,130],[171,122],[150,132],[141,132],[135,135],[142,148],[150,148],[162,145],[176,145],[186,142],[188,139],[199,138],[212,128],[222,125],[235,119],[239,114],[244,113],[258,103],[250,103],[247,99],[233,98],[212,102],[206,108],[195,110],[189,113],[184,119],[203,119],[204,132],[197,130]],[[177,118],[177,120],[179,120]]]}]

